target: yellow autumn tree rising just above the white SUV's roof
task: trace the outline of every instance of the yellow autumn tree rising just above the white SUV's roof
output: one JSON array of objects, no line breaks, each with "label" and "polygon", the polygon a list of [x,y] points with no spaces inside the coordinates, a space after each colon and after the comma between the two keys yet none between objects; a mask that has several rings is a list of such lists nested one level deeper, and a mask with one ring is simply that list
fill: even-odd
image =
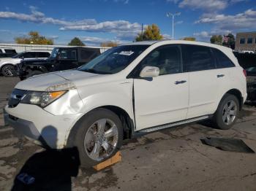
[{"label": "yellow autumn tree rising just above the white SUV's roof", "polygon": [[146,40],[162,40],[163,36],[160,34],[160,29],[156,24],[152,26],[147,26],[146,30],[143,33],[136,36],[135,41],[146,41]]}]

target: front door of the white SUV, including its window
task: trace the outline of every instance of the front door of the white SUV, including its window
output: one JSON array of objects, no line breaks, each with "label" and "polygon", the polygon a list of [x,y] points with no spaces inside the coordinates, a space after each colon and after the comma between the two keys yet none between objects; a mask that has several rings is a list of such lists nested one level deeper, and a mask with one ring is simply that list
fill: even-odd
[{"label": "front door of the white SUV, including its window", "polygon": [[185,120],[189,103],[189,78],[182,73],[181,49],[176,45],[158,47],[137,67],[159,68],[159,77],[134,79],[136,130]]}]

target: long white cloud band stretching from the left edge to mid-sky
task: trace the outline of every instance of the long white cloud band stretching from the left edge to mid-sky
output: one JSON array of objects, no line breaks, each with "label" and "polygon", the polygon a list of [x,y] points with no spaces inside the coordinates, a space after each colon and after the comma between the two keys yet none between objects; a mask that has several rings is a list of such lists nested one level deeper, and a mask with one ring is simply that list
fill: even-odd
[{"label": "long white cloud band stretching from the left edge to mid-sky", "polygon": [[[121,0],[116,0],[121,1]],[[124,1],[128,3],[128,1]],[[31,14],[23,14],[17,12],[0,12],[0,18],[15,19],[23,22],[43,23],[60,26],[61,31],[89,31],[89,32],[107,32],[116,34],[118,37],[134,39],[140,32],[141,26],[139,23],[130,23],[127,20],[112,20],[97,23],[94,19],[84,20],[60,20],[53,17],[47,17],[43,12],[39,12],[37,7],[30,6]]]}]

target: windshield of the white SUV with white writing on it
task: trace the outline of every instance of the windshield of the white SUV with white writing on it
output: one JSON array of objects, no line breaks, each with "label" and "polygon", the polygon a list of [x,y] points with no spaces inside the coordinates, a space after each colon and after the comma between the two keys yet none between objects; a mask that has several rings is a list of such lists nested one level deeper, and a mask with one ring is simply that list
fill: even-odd
[{"label": "windshield of the white SUV with white writing on it", "polygon": [[95,74],[116,74],[125,69],[149,45],[124,45],[113,47],[94,60],[80,66],[78,70]]}]

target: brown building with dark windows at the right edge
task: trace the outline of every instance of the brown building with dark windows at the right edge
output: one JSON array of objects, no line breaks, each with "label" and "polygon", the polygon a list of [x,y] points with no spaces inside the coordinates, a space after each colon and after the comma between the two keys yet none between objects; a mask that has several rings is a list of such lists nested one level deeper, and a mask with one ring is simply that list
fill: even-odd
[{"label": "brown building with dark windows at the right edge", "polygon": [[236,34],[237,51],[254,51],[256,52],[256,32]]}]

